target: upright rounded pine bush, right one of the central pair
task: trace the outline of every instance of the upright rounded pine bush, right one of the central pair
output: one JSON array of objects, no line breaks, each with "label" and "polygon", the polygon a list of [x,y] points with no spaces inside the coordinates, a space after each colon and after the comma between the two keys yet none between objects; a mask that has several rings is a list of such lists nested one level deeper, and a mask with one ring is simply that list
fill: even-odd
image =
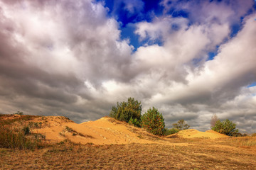
[{"label": "upright rounded pine bush, right one of the central pair", "polygon": [[142,115],[142,128],[154,135],[164,135],[165,124],[164,118],[157,108],[149,108],[149,110]]}]

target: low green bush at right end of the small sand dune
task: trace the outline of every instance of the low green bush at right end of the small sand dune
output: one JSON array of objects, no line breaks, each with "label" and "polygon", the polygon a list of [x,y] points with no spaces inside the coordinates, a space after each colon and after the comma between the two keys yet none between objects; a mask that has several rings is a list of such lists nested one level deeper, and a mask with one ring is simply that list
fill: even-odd
[{"label": "low green bush at right end of the small sand dune", "polygon": [[239,136],[240,134],[238,133],[238,129],[236,129],[235,126],[235,123],[228,119],[224,120],[223,122],[218,120],[215,123],[215,126],[213,126],[212,130],[228,136]]}]

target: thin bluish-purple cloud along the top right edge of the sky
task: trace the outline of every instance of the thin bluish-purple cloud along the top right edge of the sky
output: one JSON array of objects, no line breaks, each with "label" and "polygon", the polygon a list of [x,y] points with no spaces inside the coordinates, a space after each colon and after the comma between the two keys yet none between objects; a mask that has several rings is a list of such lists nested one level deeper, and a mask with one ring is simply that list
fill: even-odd
[{"label": "thin bluish-purple cloud along the top right edge of the sky", "polygon": [[178,1],[162,0],[164,13],[185,11],[188,18],[196,23],[235,23],[253,8],[252,0],[229,1]]}]

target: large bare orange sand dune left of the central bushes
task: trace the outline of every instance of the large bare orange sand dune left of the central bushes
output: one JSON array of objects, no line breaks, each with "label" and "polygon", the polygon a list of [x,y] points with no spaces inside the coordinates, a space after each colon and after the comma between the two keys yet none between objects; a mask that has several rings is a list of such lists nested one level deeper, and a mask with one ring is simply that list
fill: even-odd
[{"label": "large bare orange sand dune left of the central bushes", "polygon": [[[81,144],[94,143],[96,145],[154,143],[152,140],[142,139],[146,137],[154,138],[154,135],[112,118],[104,117],[81,124],[64,121],[58,117],[53,118],[53,116],[45,118],[47,118],[46,126],[36,129],[34,132],[46,135],[46,140],[51,142],[68,139]],[[71,131],[68,132],[66,127],[70,128]]]}]

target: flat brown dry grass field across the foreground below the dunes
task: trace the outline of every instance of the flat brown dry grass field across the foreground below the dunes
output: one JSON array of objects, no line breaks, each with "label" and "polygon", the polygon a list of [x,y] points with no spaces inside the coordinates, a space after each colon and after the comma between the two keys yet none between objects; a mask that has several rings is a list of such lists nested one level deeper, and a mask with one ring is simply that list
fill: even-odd
[{"label": "flat brown dry grass field across the foreground below the dunes", "polygon": [[228,147],[203,139],[180,146],[60,142],[35,151],[0,149],[0,157],[0,169],[255,169],[256,166],[255,147]]}]

